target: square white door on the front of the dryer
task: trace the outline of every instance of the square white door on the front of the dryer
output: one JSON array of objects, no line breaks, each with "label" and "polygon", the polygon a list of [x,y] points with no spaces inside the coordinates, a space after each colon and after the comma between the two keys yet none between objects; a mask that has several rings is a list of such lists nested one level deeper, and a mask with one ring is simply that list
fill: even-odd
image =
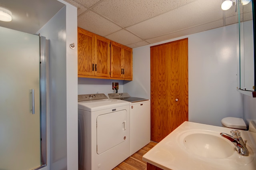
[{"label": "square white door on the front of the dryer", "polygon": [[116,111],[97,117],[97,154],[127,140],[127,111]]}]

